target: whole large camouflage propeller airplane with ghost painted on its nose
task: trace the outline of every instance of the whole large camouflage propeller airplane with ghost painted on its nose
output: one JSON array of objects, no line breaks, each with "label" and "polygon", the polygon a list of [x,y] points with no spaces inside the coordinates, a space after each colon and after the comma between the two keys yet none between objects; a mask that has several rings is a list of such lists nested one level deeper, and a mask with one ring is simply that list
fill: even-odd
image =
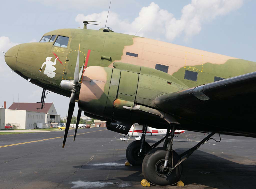
[{"label": "whole large camouflage propeller airplane with ghost painted on its nose", "polygon": [[[76,102],[74,139],[82,111],[125,135],[133,123],[143,125],[140,151],[132,154],[138,145],[134,141],[126,154],[140,161],[145,179],[155,185],[179,181],[182,163],[215,133],[256,137],[256,62],[111,28],[91,30],[90,21],[83,23],[83,29],[50,31],[39,42],[19,44],[5,53],[12,71],[43,88],[40,103],[45,90],[70,97],[62,147]],[[167,129],[149,151],[147,127]],[[176,129],[210,134],[177,154],[172,149]],[[162,141],[163,147],[157,147]]]}]

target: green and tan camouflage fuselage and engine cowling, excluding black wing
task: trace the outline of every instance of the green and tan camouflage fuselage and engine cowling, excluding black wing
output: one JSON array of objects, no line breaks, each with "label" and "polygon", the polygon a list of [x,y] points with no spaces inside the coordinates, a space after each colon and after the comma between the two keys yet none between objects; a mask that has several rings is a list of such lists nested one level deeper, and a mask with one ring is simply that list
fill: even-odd
[{"label": "green and tan camouflage fuselage and engine cowling, excluding black wing", "polygon": [[[100,116],[104,118],[115,115],[128,120],[132,115],[123,112],[123,106],[140,104],[157,109],[154,99],[159,95],[214,82],[215,77],[226,79],[256,71],[255,62],[126,34],[58,29],[46,35],[69,37],[67,47],[54,46],[55,41],[20,44],[6,52],[6,63],[25,79],[31,79],[30,82],[70,96],[71,92],[61,88],[60,82],[73,80],[81,44],[80,68],[85,62],[87,67],[97,67],[85,71],[84,78],[89,79],[84,79],[77,94],[79,107],[84,111],[83,106],[97,107],[95,114],[90,112],[92,115],[103,108]],[[43,67],[43,63],[49,63],[51,70]],[[155,69],[156,65],[164,65],[167,73]],[[195,81],[185,79],[186,70],[196,73]],[[91,81],[98,83],[97,87],[90,88]]]}]

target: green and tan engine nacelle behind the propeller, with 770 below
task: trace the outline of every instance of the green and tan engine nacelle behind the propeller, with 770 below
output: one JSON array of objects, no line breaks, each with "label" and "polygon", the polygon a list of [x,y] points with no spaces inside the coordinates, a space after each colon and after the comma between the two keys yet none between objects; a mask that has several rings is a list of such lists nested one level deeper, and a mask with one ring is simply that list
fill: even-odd
[{"label": "green and tan engine nacelle behind the propeller, with 770 below", "polygon": [[85,114],[106,120],[108,129],[122,134],[127,134],[133,123],[147,123],[152,127],[165,124],[164,113],[155,106],[154,99],[188,87],[159,70],[120,62],[113,65],[114,68],[86,69],[79,108]]}]

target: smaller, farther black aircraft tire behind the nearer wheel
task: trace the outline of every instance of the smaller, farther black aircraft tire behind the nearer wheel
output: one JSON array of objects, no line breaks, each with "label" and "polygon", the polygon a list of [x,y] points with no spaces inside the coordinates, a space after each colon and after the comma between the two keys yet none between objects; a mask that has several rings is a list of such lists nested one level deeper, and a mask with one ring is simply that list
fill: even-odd
[{"label": "smaller, farther black aircraft tire behind the nearer wheel", "polygon": [[[126,148],[126,159],[127,161],[132,164],[132,165],[142,165],[144,155],[138,156],[138,152],[140,152],[141,148],[141,141],[136,140],[133,141],[129,146]],[[146,148],[146,153],[151,149],[150,145],[145,142],[145,148]]]}]

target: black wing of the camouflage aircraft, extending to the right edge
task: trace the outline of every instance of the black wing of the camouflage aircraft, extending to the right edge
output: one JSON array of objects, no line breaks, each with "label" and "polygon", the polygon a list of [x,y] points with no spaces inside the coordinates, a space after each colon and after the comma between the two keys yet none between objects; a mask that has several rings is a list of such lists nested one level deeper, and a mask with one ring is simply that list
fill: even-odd
[{"label": "black wing of the camouflage aircraft, extending to the right edge", "polygon": [[256,137],[256,72],[163,94],[155,104],[187,130]]}]

